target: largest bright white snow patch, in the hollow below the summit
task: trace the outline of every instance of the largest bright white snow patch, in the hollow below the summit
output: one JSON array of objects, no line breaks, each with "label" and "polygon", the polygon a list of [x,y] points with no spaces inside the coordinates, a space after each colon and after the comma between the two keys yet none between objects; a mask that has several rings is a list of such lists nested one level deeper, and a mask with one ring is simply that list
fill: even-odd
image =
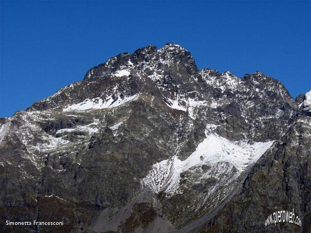
[{"label": "largest bright white snow patch, in the hollow below the summit", "polygon": [[165,190],[166,193],[173,194],[179,187],[180,174],[193,167],[200,168],[204,164],[213,166],[219,162],[228,162],[240,174],[250,164],[256,162],[273,142],[254,144],[231,142],[216,134],[210,134],[187,159],[181,161],[174,155],[170,159],[154,164],[142,182],[150,186],[155,193]]}]

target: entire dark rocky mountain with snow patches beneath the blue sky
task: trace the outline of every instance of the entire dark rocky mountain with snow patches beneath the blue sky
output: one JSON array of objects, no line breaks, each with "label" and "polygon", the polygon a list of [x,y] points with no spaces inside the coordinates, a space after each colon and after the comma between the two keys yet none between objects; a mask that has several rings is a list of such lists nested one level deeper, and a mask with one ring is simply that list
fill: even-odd
[{"label": "entire dark rocky mountain with snow patches beneath the blue sky", "polygon": [[119,54],[0,119],[0,230],[308,232],[310,99],[172,43]]}]

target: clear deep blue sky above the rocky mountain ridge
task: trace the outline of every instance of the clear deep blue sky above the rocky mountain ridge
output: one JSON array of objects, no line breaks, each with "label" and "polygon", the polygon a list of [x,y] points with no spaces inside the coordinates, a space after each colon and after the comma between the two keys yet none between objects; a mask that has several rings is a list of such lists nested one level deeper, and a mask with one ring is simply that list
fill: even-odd
[{"label": "clear deep blue sky above the rocky mountain ridge", "polygon": [[0,116],[82,80],[109,57],[182,45],[197,66],[311,87],[310,1],[1,1]]}]

